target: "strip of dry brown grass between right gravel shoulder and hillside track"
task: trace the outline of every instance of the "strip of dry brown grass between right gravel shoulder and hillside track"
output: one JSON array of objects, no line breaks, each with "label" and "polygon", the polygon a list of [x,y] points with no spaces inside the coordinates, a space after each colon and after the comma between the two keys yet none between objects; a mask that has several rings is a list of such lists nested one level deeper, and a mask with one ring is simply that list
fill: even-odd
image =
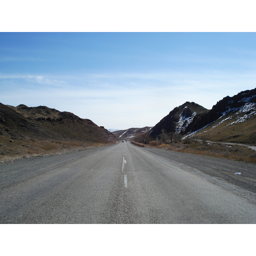
[{"label": "strip of dry brown grass between right gravel shoulder and hillside track", "polygon": [[256,163],[256,151],[239,145],[225,145],[221,143],[212,144],[160,144],[150,142],[148,147],[162,148],[177,152],[206,155],[210,157],[226,158],[230,160],[238,160],[246,163]]}]

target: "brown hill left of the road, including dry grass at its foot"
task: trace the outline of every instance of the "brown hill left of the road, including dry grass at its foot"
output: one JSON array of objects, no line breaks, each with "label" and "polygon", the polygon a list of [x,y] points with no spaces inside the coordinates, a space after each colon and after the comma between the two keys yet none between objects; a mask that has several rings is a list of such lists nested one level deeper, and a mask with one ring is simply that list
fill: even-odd
[{"label": "brown hill left of the road, including dry grass at its foot", "polygon": [[0,103],[0,158],[8,155],[19,158],[25,153],[34,155],[115,141],[116,137],[103,126],[70,112],[46,106],[13,107]]}]

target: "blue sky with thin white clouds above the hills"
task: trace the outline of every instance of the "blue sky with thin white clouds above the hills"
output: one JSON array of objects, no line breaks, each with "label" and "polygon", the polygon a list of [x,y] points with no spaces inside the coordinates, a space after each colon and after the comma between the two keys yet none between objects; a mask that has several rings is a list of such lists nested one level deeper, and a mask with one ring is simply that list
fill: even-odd
[{"label": "blue sky with thin white clouds above the hills", "polygon": [[0,102],[105,128],[154,126],[256,87],[255,32],[1,32]]}]

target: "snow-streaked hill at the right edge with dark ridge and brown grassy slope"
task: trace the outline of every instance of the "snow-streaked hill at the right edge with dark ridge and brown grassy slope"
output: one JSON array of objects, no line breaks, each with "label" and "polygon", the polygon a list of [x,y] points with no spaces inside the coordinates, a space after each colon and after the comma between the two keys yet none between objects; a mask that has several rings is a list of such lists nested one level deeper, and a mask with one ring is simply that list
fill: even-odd
[{"label": "snow-streaked hill at the right edge with dark ridge and brown grassy slope", "polygon": [[218,101],[197,122],[192,122],[187,132],[209,140],[255,144],[256,89]]}]

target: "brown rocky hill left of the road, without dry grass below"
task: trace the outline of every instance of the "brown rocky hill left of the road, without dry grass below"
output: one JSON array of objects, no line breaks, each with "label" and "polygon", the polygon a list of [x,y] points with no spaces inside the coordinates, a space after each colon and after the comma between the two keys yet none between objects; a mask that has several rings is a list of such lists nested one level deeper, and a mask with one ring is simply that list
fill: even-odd
[{"label": "brown rocky hill left of the road, without dry grass below", "polygon": [[115,141],[116,137],[89,119],[45,106],[29,108],[0,103],[0,135],[48,140],[83,140],[92,143]]}]

